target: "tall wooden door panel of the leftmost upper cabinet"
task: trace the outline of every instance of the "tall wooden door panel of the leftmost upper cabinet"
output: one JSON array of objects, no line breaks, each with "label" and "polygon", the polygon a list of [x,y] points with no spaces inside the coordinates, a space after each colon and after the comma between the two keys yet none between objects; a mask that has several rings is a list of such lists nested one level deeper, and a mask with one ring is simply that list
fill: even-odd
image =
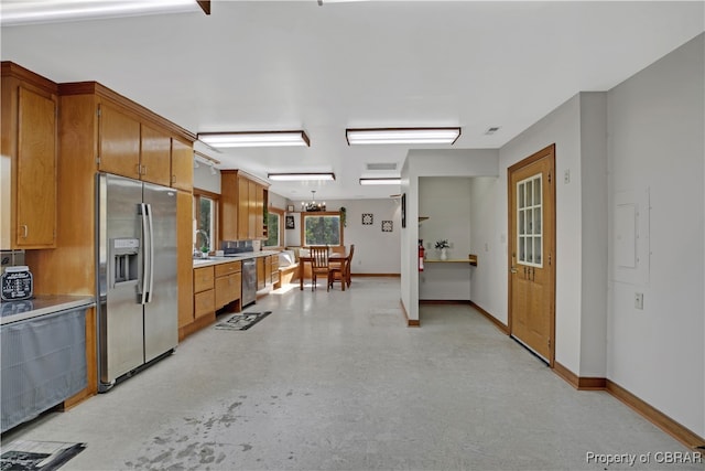
[{"label": "tall wooden door panel of the leftmost upper cabinet", "polygon": [[52,247],[56,233],[56,103],[20,87],[17,246]]}]

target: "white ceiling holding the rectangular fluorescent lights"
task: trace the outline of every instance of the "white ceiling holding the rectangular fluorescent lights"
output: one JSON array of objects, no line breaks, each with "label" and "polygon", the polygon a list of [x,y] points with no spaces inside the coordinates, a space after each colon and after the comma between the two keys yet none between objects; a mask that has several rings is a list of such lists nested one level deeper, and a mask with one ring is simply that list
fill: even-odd
[{"label": "white ceiling holding the rectangular fluorescent lights", "polygon": [[[452,149],[498,148],[704,24],[703,1],[214,1],[209,17],[3,25],[0,51],[58,83],[97,81],[194,133],[304,129],[310,148],[198,149],[260,178],[333,171],[335,182],[271,191],[303,200],[315,189],[317,200],[335,200],[398,193],[358,179],[398,175],[366,164],[401,168],[409,150],[348,147],[348,127],[460,126]],[[501,129],[486,136],[492,126]]]}]

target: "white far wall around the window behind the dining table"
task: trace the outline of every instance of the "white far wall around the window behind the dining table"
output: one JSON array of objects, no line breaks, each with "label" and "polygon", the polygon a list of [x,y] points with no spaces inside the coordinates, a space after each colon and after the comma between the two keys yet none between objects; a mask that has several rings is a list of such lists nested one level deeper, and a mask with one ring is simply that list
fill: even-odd
[{"label": "white far wall around the window behind the dining table", "polygon": [[[290,203],[294,204],[294,203]],[[300,203],[301,204],[301,203]],[[294,206],[296,207],[296,206]],[[401,271],[401,206],[399,199],[334,200],[326,201],[329,211],[346,208],[344,228],[346,246],[355,244],[352,275],[398,275]],[[362,213],[372,214],[372,224],[362,225]],[[295,216],[295,229],[286,229],[288,246],[301,245],[301,215]],[[392,232],[382,232],[382,221],[392,222]]]}]

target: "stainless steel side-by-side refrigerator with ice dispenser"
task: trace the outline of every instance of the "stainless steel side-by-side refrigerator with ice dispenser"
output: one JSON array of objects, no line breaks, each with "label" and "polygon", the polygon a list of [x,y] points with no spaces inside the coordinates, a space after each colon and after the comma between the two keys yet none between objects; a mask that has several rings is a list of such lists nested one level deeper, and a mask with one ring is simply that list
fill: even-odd
[{"label": "stainless steel side-by-side refrigerator with ice dispenser", "polygon": [[178,343],[176,191],[99,173],[96,182],[98,390]]}]

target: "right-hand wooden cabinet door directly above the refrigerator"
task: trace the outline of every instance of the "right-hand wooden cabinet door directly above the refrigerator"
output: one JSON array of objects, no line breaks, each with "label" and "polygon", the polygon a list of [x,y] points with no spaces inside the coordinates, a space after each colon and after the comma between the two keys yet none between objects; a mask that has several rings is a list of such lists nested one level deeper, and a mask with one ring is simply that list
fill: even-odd
[{"label": "right-hand wooden cabinet door directly above the refrigerator", "polygon": [[141,129],[140,178],[169,186],[172,182],[172,139],[147,125]]}]

